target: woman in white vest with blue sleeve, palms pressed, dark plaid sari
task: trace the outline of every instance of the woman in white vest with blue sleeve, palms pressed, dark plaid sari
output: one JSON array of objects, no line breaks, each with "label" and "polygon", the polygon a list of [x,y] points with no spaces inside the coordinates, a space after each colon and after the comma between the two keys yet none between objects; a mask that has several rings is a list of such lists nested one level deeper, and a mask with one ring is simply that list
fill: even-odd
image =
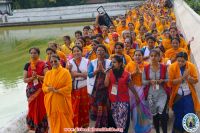
[{"label": "woman in white vest with blue sleeve, palms pressed, dark plaid sari", "polygon": [[105,59],[106,47],[104,45],[97,46],[96,54],[97,59],[92,60],[88,67],[87,88],[91,95],[90,118],[96,121],[96,128],[101,128],[108,126],[109,99],[104,80],[105,70],[110,68],[111,61]]}]

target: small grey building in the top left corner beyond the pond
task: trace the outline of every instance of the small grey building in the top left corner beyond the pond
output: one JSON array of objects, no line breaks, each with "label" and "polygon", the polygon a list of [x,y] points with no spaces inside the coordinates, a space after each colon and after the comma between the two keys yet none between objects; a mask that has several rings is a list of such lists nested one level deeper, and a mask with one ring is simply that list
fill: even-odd
[{"label": "small grey building in the top left corner beyond the pond", "polygon": [[12,10],[11,10],[11,3],[12,0],[0,0],[0,14],[8,14],[12,15]]}]

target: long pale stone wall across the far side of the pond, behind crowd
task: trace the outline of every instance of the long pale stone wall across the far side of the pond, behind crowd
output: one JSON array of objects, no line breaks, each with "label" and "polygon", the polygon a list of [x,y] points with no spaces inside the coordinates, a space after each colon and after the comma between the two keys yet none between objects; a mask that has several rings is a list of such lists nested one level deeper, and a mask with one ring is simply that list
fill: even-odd
[{"label": "long pale stone wall across the far side of the pond, behind crowd", "polygon": [[142,4],[143,1],[114,2],[104,4],[90,4],[79,6],[65,6],[54,8],[34,8],[26,10],[14,10],[12,16],[4,16],[5,23],[0,26],[34,25],[66,22],[91,21],[97,15],[97,8],[103,6],[108,15],[116,16],[124,14],[127,9]]}]

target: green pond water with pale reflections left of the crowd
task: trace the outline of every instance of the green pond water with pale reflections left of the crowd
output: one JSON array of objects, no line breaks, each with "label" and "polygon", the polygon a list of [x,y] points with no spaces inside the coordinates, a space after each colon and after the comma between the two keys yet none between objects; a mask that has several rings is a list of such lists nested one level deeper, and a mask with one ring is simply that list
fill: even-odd
[{"label": "green pond water with pale reflections left of the crowd", "polygon": [[74,37],[90,23],[0,28],[0,128],[27,110],[23,68],[29,61],[28,50],[40,48],[41,59],[49,41],[62,42],[64,35]]}]

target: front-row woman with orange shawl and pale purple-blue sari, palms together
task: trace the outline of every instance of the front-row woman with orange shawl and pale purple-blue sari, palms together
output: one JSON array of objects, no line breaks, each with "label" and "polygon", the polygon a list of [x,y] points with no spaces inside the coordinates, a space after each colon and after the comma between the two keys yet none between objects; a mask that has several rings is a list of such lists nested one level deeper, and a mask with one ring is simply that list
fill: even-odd
[{"label": "front-row woman with orange shawl and pale purple-blue sari, palms together", "polygon": [[143,61],[143,52],[135,50],[134,61],[126,66],[126,71],[131,74],[130,84],[130,109],[135,133],[149,133],[151,131],[151,113],[144,97],[142,85],[142,71],[148,63]]}]

